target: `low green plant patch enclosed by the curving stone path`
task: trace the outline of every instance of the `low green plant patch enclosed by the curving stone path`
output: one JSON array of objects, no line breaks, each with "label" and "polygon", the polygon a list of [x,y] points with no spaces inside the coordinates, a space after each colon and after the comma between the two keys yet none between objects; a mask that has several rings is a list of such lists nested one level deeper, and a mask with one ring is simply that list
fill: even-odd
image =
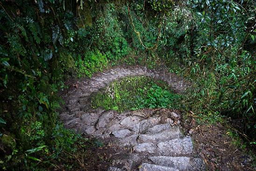
[{"label": "low green plant patch enclosed by the curving stone path", "polygon": [[181,95],[174,94],[166,83],[147,77],[128,77],[114,81],[92,98],[92,107],[104,107],[120,112],[144,108],[177,109]]}]

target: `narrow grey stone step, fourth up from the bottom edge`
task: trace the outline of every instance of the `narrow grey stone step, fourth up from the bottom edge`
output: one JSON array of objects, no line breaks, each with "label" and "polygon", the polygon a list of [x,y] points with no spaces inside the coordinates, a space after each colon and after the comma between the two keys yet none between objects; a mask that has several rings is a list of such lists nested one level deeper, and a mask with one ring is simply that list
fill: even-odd
[{"label": "narrow grey stone step, fourth up from the bottom edge", "polygon": [[168,141],[174,138],[182,137],[182,133],[178,127],[168,128],[158,133],[148,133],[139,135],[137,141],[139,143],[157,143],[162,141]]}]

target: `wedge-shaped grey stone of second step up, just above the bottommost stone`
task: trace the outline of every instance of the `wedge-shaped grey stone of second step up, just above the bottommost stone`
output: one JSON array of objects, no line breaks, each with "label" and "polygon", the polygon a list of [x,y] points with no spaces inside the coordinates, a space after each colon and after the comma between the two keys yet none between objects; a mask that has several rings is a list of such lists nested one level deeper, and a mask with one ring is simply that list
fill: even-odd
[{"label": "wedge-shaped grey stone of second step up, just above the bottommost stone", "polygon": [[190,168],[189,157],[154,156],[149,157],[149,159],[154,164],[168,166],[182,171],[188,171]]}]

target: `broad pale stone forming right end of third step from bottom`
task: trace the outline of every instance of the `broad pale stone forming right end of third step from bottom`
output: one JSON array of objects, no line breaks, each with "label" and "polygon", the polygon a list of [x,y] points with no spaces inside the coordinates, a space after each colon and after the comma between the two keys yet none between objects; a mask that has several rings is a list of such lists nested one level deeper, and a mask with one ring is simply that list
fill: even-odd
[{"label": "broad pale stone forming right end of third step from bottom", "polygon": [[164,155],[191,154],[192,149],[193,144],[191,137],[172,139],[170,141],[160,142],[157,144],[157,150]]}]

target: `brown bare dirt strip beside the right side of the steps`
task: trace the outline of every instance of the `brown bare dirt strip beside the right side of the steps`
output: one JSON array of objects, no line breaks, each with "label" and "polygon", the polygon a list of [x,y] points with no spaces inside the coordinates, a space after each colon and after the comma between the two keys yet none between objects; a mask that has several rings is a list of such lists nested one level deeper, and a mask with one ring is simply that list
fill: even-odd
[{"label": "brown bare dirt strip beside the right side of the steps", "polygon": [[192,137],[194,150],[205,161],[208,171],[256,171],[256,167],[251,166],[253,158],[233,143],[225,126],[199,125],[191,117],[183,127],[185,134]]}]

